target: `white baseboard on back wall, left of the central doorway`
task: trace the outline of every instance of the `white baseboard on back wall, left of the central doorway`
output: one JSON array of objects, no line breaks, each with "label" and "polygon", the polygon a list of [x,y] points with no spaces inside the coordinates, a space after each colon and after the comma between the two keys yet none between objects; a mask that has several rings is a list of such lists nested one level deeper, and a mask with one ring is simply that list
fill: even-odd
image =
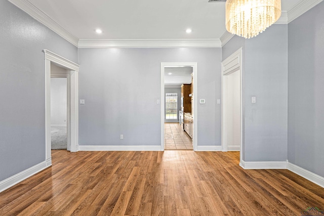
[{"label": "white baseboard on back wall, left of the central doorway", "polygon": [[79,151],[161,151],[160,146],[78,146]]}]

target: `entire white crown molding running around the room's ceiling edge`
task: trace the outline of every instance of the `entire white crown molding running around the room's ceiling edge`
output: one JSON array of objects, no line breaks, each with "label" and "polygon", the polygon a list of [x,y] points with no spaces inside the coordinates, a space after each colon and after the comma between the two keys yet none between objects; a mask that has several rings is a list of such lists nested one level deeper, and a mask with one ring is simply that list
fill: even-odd
[{"label": "entire white crown molding running around the room's ceiling edge", "polygon": [[[225,31],[220,39],[78,39],[46,13],[38,9],[30,0],[8,1],[78,48],[221,48],[234,36],[234,34]],[[275,24],[288,24],[322,1],[302,0],[288,12],[282,11]]]}]

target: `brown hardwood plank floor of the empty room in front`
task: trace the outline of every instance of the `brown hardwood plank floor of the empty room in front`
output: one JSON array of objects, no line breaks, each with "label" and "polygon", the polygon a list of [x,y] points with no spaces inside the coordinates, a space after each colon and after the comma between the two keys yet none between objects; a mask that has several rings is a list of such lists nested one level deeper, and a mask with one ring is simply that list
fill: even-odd
[{"label": "brown hardwood plank floor of the empty room in front", "polygon": [[324,189],[289,170],[244,170],[238,152],[52,151],[0,193],[0,215],[302,215]]}]

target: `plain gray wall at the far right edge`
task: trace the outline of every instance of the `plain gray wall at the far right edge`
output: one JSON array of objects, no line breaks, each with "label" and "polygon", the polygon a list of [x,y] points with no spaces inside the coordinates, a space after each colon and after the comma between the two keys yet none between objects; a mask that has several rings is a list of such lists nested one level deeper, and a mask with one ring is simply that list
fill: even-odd
[{"label": "plain gray wall at the far right edge", "polygon": [[324,177],[324,2],[288,25],[288,160]]}]

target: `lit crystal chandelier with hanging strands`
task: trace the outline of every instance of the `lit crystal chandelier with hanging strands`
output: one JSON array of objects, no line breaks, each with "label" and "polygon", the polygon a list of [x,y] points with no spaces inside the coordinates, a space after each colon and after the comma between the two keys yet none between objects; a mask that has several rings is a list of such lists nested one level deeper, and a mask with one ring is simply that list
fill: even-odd
[{"label": "lit crystal chandelier with hanging strands", "polygon": [[280,16],[280,0],[226,1],[227,31],[245,38],[257,36]]}]

